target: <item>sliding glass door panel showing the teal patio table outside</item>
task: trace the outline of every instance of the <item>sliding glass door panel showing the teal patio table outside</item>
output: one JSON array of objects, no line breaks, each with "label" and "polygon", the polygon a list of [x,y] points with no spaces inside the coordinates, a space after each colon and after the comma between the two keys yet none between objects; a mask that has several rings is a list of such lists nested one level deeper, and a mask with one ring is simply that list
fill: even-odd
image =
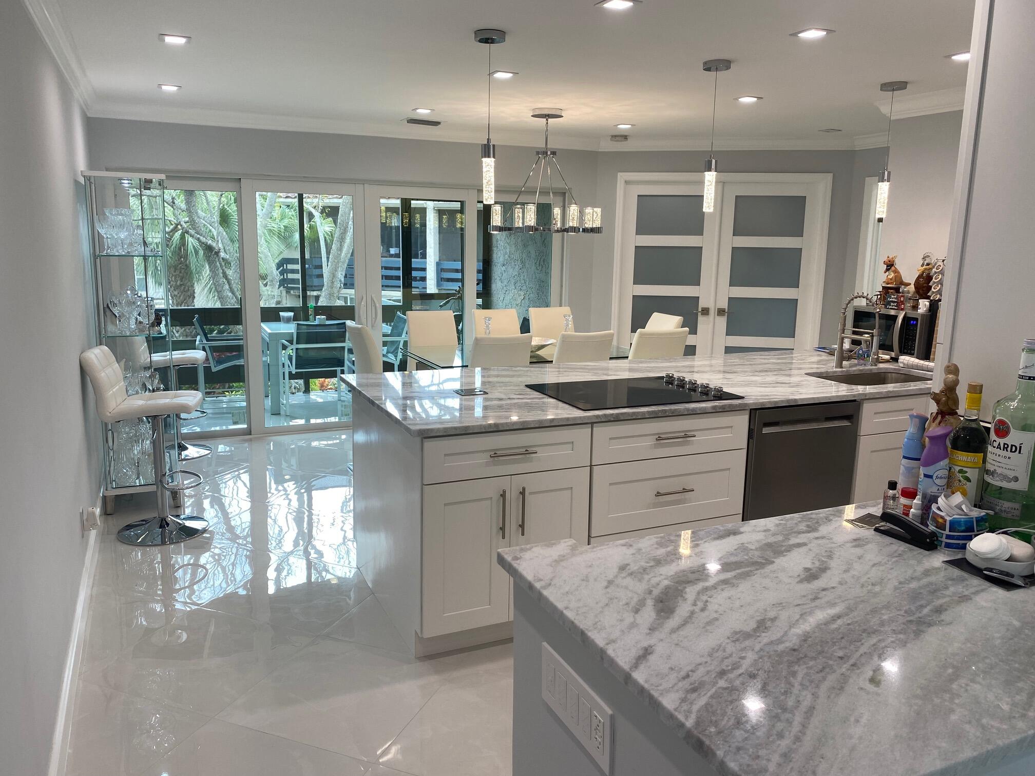
[{"label": "sliding glass door panel showing the teal patio table outside", "polygon": [[[256,427],[341,424],[345,322],[356,318],[356,186],[244,181]],[[361,221],[360,221],[361,222]],[[262,387],[263,401],[258,400]]]}]

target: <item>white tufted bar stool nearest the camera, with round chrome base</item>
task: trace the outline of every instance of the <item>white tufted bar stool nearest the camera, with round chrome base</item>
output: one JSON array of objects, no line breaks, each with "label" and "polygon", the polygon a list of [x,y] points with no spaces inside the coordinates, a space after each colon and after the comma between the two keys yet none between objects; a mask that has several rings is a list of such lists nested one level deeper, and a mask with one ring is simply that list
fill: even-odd
[{"label": "white tufted bar stool nearest the camera, with round chrome base", "polygon": [[191,413],[201,406],[198,391],[158,391],[155,393],[126,394],[122,369],[115,356],[105,346],[91,348],[80,354],[80,365],[86,372],[96,399],[97,415],[106,423],[117,423],[131,418],[151,421],[151,454],[154,456],[154,494],[158,513],[123,526],[118,532],[119,541],[138,546],[175,544],[200,536],[208,529],[208,520],[196,515],[171,515],[169,493],[182,494],[202,482],[196,472],[166,469],[166,434],[162,421],[167,415]]}]

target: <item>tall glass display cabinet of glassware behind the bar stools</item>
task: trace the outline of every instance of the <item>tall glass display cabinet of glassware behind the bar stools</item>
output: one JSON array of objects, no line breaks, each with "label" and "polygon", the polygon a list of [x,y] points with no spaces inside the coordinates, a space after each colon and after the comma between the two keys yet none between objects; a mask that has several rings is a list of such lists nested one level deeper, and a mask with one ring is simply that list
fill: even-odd
[{"label": "tall glass display cabinet of glassware behind the bar stools", "polygon": [[[168,325],[165,176],[84,171],[97,344],[115,354],[128,394],[165,390]],[[175,426],[175,424],[172,424]],[[119,494],[154,489],[147,419],[106,423],[105,511]],[[168,439],[176,440],[175,427]]]}]

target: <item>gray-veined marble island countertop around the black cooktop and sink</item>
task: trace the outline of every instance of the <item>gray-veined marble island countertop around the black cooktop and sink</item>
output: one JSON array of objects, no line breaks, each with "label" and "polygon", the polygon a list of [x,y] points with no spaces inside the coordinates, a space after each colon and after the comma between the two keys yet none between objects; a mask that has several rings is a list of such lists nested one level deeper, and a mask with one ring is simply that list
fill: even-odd
[{"label": "gray-veined marble island countertop around the black cooktop and sink", "polygon": [[[414,437],[535,428],[543,425],[733,412],[759,407],[926,393],[926,382],[854,386],[809,377],[833,368],[833,358],[816,351],[691,356],[672,360],[613,360],[487,369],[427,369],[350,375],[353,396],[371,401]],[[860,367],[868,368],[868,367]],[[896,368],[893,365],[884,368]],[[526,388],[528,383],[685,375],[721,385],[743,399],[584,412]],[[901,371],[906,371],[901,369]],[[923,372],[914,372],[923,375]],[[482,396],[460,396],[454,388],[483,388]]]}]

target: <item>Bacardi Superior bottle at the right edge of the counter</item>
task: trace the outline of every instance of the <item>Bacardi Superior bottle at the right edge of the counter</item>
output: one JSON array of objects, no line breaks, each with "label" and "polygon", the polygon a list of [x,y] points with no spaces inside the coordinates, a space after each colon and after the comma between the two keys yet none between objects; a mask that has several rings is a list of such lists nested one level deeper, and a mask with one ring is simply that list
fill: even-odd
[{"label": "Bacardi Superior bottle at the right edge of the counter", "polygon": [[1017,390],[996,402],[981,507],[992,510],[988,530],[1035,524],[1035,339],[1021,353]]}]

